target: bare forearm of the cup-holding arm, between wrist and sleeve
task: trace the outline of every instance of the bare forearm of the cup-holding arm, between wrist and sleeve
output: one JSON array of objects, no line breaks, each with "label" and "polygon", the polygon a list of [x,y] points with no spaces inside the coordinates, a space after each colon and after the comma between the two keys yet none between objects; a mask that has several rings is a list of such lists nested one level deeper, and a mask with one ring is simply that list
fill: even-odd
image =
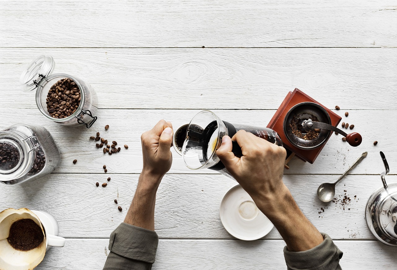
[{"label": "bare forearm of the cup-holding arm, between wrist and sleeve", "polygon": [[142,171],[125,223],[154,231],[156,192],[162,176]]}]

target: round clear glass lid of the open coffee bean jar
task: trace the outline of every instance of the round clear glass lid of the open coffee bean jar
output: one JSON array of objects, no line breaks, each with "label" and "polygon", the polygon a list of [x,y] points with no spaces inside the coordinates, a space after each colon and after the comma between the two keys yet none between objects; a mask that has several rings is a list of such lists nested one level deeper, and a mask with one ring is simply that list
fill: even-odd
[{"label": "round clear glass lid of the open coffee bean jar", "polygon": [[33,91],[40,82],[50,75],[55,68],[55,62],[52,56],[40,55],[33,60],[22,72],[19,83],[24,92]]}]

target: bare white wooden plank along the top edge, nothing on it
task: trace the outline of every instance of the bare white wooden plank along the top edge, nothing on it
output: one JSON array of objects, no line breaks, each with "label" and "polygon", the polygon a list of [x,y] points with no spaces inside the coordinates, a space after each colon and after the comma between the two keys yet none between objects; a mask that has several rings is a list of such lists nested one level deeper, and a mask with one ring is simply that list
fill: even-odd
[{"label": "bare white wooden plank along the top edge, nothing on it", "polygon": [[395,47],[396,18],[393,0],[2,1],[0,47]]}]

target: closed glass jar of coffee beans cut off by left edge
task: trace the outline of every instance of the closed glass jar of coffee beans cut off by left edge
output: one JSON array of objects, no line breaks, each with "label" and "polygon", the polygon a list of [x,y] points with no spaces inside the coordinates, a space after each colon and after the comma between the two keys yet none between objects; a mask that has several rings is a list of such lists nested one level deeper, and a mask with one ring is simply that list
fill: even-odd
[{"label": "closed glass jar of coffee beans cut off by left edge", "polygon": [[35,125],[0,131],[0,183],[19,184],[52,173],[61,155],[50,132]]}]

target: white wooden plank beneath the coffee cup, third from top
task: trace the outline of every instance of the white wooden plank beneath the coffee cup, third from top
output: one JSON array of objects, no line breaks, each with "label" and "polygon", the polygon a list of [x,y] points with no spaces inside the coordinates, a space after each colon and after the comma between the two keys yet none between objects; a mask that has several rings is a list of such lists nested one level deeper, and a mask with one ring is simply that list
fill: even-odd
[{"label": "white wooden plank beneath the coffee cup, third from top", "polygon": [[[5,121],[1,129],[12,124],[37,124],[46,127],[53,135],[62,155],[57,173],[104,173],[102,165],[108,166],[109,173],[140,173],[142,169],[141,134],[151,129],[160,119],[173,123],[174,129],[189,123],[198,110],[99,110],[98,120],[91,127],[67,128],[47,120],[36,109],[8,110],[1,107],[0,113]],[[218,116],[231,123],[266,126],[274,110],[214,110]],[[354,174],[379,174],[383,170],[379,151],[387,156],[391,168],[397,164],[397,126],[396,110],[349,110],[349,117],[344,111],[336,111],[343,116],[343,122],[354,124],[353,130],[363,137],[358,147],[349,146],[341,141],[341,135],[331,135],[330,140],[314,162],[308,164],[297,157],[289,162],[286,174],[342,174],[355,160],[368,151],[368,157],[355,168]],[[104,126],[110,125],[105,131]],[[95,141],[89,137],[99,131],[108,141],[117,141],[122,150],[112,156],[103,154],[95,147]],[[373,142],[377,140],[378,145]],[[123,145],[129,146],[125,150]],[[173,149],[173,166],[170,173],[216,173],[211,170],[192,171],[183,163],[183,159]],[[72,161],[77,159],[77,164]],[[395,166],[397,167],[397,165]],[[391,173],[395,173],[391,171]]]}]

